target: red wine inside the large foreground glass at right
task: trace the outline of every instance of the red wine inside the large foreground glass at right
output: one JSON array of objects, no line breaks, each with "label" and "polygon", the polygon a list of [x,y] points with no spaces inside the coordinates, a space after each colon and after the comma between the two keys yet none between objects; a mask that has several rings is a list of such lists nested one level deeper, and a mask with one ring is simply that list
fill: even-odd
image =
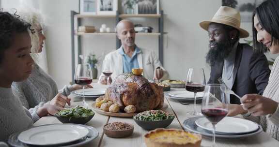
[{"label": "red wine inside the large foreground glass at right", "polygon": [[228,110],[222,108],[202,109],[202,114],[212,123],[217,124],[227,116]]}]

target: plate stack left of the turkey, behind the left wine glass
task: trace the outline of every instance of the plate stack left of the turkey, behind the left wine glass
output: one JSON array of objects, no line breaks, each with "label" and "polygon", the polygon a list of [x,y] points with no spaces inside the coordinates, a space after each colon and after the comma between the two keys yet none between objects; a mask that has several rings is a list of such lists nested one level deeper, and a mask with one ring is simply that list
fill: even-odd
[{"label": "plate stack left of the turkey, behind the left wine glass", "polygon": [[[104,95],[106,89],[104,88],[88,88],[84,89],[84,96],[88,98],[96,98]],[[78,97],[83,97],[83,89],[72,91],[72,94]]]}]

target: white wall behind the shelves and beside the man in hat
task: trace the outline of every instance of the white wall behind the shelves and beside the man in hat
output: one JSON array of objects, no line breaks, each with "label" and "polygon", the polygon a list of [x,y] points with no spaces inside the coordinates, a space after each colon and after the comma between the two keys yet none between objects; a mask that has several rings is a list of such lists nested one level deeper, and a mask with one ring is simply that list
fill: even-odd
[{"label": "white wall behind the shelves and beside the man in hat", "polygon": [[[209,75],[209,67],[205,64],[208,39],[207,32],[199,27],[202,20],[209,20],[215,14],[221,0],[161,0],[164,11],[164,67],[172,79],[185,79],[187,68],[204,67]],[[86,18],[84,25],[95,25],[99,28],[102,23],[114,27],[113,20]],[[134,23],[152,26],[155,31],[157,19],[134,18]],[[97,22],[102,21],[102,22]],[[114,36],[83,36],[83,50],[86,54],[92,50],[101,55],[115,49]],[[157,36],[136,36],[136,44],[142,48],[158,50]],[[100,68],[99,68],[100,71]]]}]

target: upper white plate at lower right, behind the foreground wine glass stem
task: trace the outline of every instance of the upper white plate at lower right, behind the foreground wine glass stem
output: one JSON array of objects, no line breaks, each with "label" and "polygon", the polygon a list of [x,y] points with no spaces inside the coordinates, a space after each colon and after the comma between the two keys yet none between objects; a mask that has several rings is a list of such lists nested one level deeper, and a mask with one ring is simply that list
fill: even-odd
[{"label": "upper white plate at lower right, behind the foreground wine glass stem", "polygon": [[[197,126],[206,130],[213,130],[212,123],[207,118],[200,118],[195,121]],[[216,132],[241,134],[253,132],[259,129],[258,124],[242,118],[225,117],[216,125]]]}]

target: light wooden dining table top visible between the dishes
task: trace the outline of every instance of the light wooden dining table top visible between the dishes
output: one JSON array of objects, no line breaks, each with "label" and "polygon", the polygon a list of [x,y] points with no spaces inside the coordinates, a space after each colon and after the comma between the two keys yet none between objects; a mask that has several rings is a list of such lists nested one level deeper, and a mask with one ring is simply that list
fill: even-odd
[{"label": "light wooden dining table top visible between the dishes", "polygon": [[[107,85],[101,85],[98,83],[92,83],[93,88],[107,88]],[[185,88],[171,88],[172,90],[185,90]],[[79,97],[73,94],[68,96],[71,98],[71,105],[68,107],[75,107],[76,105],[82,105],[82,101]],[[92,108],[93,100],[86,99],[89,103],[89,108]],[[164,111],[167,111],[175,115],[174,120],[167,129],[181,129],[183,128],[183,122],[186,120],[186,112],[192,111],[194,106],[192,104],[182,104],[178,101],[170,99],[170,97],[165,96],[164,103],[168,105]],[[201,105],[197,105],[197,109],[201,109]],[[125,138],[110,138],[103,132],[103,126],[111,122],[126,122],[134,125],[134,132],[131,136]],[[34,126],[46,125],[46,124],[57,124],[61,123],[54,116],[47,116],[40,118]],[[111,117],[106,115],[101,115],[95,112],[94,117],[86,124],[92,126],[99,132],[97,138],[95,138],[90,143],[82,147],[146,147],[144,142],[144,134],[149,131],[142,129],[132,118],[121,118],[121,117]],[[185,130],[187,131],[187,130]],[[202,136],[201,147],[208,147],[212,144],[211,137]],[[260,132],[258,134],[245,137],[245,138],[217,138],[215,147],[279,147],[279,141],[272,138],[265,132]]]}]

